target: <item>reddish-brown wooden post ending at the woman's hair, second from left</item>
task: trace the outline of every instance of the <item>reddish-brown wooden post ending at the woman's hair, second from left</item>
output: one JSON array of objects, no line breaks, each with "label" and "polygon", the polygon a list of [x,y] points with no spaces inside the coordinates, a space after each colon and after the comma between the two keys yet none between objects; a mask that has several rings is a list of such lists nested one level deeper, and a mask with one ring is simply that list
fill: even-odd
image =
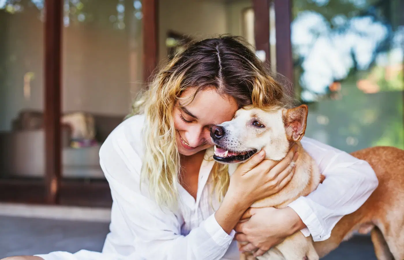
[{"label": "reddish-brown wooden post ending at the woman's hair, second from left", "polygon": [[158,63],[158,0],[142,1],[143,81],[148,82]]}]

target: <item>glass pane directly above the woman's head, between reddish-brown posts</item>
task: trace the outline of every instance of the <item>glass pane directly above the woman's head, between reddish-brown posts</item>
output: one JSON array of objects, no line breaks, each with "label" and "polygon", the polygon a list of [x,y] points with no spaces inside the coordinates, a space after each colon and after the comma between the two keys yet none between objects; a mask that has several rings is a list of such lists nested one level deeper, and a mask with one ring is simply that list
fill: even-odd
[{"label": "glass pane directly above the woman's head, between reddish-brown posts", "polygon": [[[172,57],[183,40],[221,34],[243,36],[254,45],[254,16],[251,0],[201,1],[164,0],[159,2],[160,60]],[[171,37],[172,35],[175,37]]]}]

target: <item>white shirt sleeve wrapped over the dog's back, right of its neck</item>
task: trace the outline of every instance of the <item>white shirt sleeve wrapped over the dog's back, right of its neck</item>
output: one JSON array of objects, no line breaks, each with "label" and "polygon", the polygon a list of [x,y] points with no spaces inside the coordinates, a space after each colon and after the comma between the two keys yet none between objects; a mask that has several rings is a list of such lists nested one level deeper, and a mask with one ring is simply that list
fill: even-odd
[{"label": "white shirt sleeve wrapped over the dog's back, right of its neck", "polygon": [[365,203],[379,182],[366,161],[309,138],[301,143],[326,178],[314,192],[288,206],[307,226],[302,233],[306,237],[311,235],[314,241],[323,241],[330,237],[332,228],[343,216]]}]

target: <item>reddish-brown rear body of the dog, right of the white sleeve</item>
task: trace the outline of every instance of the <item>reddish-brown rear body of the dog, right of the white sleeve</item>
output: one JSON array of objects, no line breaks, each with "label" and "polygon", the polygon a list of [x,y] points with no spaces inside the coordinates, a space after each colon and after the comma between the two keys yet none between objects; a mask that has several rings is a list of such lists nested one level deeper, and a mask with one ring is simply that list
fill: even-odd
[{"label": "reddish-brown rear body of the dog, right of the white sleeve", "polygon": [[370,232],[379,260],[404,259],[404,150],[373,147],[353,152],[375,171],[379,186],[355,212],[344,216],[332,229],[331,237],[315,242],[320,257],[349,239],[354,232]]}]

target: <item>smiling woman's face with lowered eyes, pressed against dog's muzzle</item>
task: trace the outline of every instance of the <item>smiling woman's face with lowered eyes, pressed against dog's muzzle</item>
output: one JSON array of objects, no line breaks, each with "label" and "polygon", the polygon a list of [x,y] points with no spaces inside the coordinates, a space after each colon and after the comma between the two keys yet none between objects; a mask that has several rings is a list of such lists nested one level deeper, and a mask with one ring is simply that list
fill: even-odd
[{"label": "smiling woman's face with lowered eyes, pressed against dog's muzzle", "polygon": [[[181,98],[192,98],[194,93],[195,88],[189,88],[183,91]],[[231,120],[238,109],[233,97],[219,95],[213,88],[199,91],[194,100],[188,103],[179,101],[174,108],[178,151],[185,156],[212,146],[210,127]]]}]

